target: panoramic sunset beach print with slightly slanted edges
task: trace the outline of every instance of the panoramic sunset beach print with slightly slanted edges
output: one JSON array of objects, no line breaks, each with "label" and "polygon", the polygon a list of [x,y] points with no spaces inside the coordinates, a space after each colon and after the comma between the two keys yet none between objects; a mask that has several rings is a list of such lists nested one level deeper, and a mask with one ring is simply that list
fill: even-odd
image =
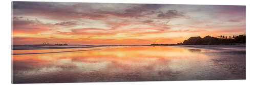
[{"label": "panoramic sunset beach print with slightly slanted edges", "polygon": [[12,83],[246,79],[245,11],[12,2]]}]

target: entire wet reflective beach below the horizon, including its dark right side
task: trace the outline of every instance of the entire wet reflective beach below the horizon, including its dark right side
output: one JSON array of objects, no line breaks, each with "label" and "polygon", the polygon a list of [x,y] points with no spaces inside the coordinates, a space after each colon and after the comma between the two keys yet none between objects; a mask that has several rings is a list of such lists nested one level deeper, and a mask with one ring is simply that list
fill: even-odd
[{"label": "entire wet reflective beach below the horizon, including its dark right side", "polygon": [[16,46],[12,82],[245,79],[245,55],[245,45]]}]

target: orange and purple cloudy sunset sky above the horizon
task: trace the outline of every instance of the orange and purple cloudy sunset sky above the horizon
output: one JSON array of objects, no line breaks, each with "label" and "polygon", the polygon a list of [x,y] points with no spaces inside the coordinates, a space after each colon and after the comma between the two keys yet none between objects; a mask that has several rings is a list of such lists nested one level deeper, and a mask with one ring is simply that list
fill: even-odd
[{"label": "orange and purple cloudy sunset sky above the horizon", "polygon": [[14,45],[176,44],[245,33],[245,6],[13,2]]}]

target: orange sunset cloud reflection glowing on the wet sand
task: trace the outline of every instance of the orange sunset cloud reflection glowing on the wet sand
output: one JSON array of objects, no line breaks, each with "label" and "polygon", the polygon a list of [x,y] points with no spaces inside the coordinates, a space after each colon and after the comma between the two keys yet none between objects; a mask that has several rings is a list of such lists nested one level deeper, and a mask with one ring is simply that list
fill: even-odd
[{"label": "orange sunset cloud reflection glowing on the wet sand", "polygon": [[[200,50],[200,51],[199,51]],[[204,49],[173,46],[13,55],[14,83],[233,79]],[[210,50],[206,50],[210,51]]]}]

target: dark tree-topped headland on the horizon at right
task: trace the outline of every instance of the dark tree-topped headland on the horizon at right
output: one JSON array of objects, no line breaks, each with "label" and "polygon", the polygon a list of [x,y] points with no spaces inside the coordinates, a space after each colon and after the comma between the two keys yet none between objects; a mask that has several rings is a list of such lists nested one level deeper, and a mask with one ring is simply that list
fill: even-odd
[{"label": "dark tree-topped headland on the horizon at right", "polygon": [[151,45],[217,45],[217,44],[244,44],[245,43],[245,35],[239,36],[218,36],[211,37],[205,36],[204,38],[198,37],[190,37],[187,40],[184,40],[183,43],[177,44],[151,44]]}]

